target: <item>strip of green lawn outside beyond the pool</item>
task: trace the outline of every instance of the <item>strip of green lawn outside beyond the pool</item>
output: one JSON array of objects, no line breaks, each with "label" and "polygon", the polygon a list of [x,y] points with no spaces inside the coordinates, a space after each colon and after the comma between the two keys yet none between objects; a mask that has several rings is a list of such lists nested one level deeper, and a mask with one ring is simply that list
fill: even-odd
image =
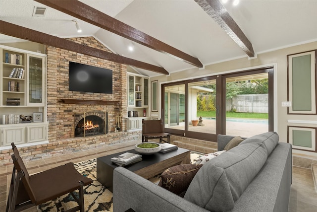
[{"label": "strip of green lawn outside beyond the pool", "polygon": [[[197,111],[197,117],[215,117],[215,111]],[[236,113],[226,112],[226,118],[268,119],[268,113]]]}]

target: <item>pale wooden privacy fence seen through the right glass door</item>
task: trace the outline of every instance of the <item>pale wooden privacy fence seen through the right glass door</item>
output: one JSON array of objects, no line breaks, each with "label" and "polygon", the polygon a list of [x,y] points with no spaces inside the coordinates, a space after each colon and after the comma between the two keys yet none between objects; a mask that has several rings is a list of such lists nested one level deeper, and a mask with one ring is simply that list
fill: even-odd
[{"label": "pale wooden privacy fence seen through the right glass door", "polygon": [[268,94],[243,94],[227,99],[226,111],[268,113]]}]

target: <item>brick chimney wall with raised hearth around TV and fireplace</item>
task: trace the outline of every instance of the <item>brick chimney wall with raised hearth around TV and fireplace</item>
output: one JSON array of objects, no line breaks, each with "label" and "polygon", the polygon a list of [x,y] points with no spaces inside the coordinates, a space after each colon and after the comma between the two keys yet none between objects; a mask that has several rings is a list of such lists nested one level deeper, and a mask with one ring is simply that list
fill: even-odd
[{"label": "brick chimney wall with raised hearth around TV and fireplace", "polygon": [[[69,38],[68,40],[90,46],[103,51],[109,51],[93,37]],[[48,144],[19,148],[24,161],[35,160],[47,156],[71,153],[74,151],[93,149],[115,143],[141,141],[141,131],[128,133],[126,119],[122,119],[122,132],[114,133],[115,116],[122,112],[127,114],[126,66],[103,59],[67,51],[52,46],[46,47],[47,53],[47,120]],[[112,94],[86,93],[69,91],[69,61],[87,64],[112,70]],[[118,101],[119,104],[64,104],[61,99],[107,100]],[[74,137],[74,113],[88,110],[102,110],[108,112],[109,133],[94,137]],[[11,151],[0,152],[0,164],[11,164]]]}]

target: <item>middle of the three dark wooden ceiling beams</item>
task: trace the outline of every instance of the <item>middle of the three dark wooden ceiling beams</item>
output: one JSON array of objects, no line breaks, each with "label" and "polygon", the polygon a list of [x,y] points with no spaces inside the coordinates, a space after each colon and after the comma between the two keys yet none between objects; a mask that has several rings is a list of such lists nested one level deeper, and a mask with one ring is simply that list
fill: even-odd
[{"label": "middle of the three dark wooden ceiling beams", "polygon": [[202,68],[203,64],[195,57],[192,57],[174,47],[171,47],[150,35],[141,32],[105,13],[82,3],[78,0],[35,0],[63,13],[91,23],[112,33],[132,40],[136,43],[169,55],[193,66]]}]

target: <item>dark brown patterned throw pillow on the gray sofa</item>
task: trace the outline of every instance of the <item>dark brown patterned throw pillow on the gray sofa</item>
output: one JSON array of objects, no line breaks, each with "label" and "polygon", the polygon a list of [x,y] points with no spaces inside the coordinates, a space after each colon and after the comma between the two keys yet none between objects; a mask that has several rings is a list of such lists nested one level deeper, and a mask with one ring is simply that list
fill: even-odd
[{"label": "dark brown patterned throw pillow on the gray sofa", "polygon": [[166,169],[161,174],[159,186],[184,197],[189,184],[202,165],[180,164]]}]

